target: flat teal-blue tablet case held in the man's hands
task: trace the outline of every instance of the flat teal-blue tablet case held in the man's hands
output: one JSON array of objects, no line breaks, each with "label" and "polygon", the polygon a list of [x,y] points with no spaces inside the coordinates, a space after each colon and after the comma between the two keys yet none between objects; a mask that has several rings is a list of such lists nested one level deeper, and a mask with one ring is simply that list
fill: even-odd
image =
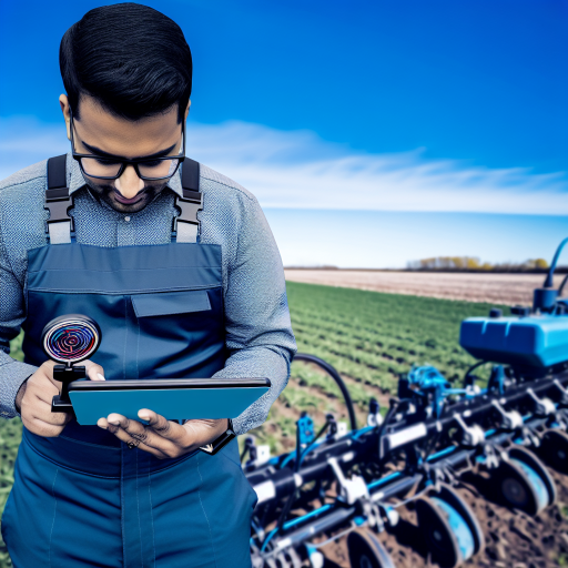
[{"label": "flat teal-blue tablet case held in the man's hands", "polygon": [[94,425],[111,413],[140,422],[138,413],[149,408],[172,420],[236,418],[268,386],[227,388],[168,388],[142,390],[70,390],[77,422]]}]

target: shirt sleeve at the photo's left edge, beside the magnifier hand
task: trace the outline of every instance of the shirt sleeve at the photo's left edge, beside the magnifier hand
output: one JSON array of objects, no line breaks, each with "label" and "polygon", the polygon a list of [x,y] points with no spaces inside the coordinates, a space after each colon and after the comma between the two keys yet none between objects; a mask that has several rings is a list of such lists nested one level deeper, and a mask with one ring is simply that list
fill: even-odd
[{"label": "shirt sleeve at the photo's left edge, beside the magnifier hand", "polygon": [[0,416],[13,418],[16,395],[38,367],[10,357],[10,341],[18,336],[26,320],[23,290],[13,274],[0,232]]}]

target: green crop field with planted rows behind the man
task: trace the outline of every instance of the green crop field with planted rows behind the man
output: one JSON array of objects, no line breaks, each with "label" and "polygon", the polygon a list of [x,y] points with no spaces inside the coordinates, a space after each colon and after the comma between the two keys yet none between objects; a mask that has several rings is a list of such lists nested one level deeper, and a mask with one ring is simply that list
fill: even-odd
[{"label": "green crop field with planted rows behind the man", "polygon": [[[339,371],[356,404],[359,425],[369,397],[387,404],[396,394],[397,374],[413,363],[435,365],[450,381],[460,378],[474,359],[458,345],[459,323],[486,315],[493,307],[298,283],[287,283],[287,294],[298,351],[322,357]],[[12,356],[20,361],[21,341],[20,335],[11,344]],[[290,383],[268,419],[250,434],[257,443],[268,444],[273,453],[292,449],[302,410],[316,424],[323,424],[328,412],[346,418],[335,383],[312,365],[294,363]],[[0,420],[0,511],[13,481],[20,435],[19,420]],[[0,568],[9,566],[0,540]]]}]

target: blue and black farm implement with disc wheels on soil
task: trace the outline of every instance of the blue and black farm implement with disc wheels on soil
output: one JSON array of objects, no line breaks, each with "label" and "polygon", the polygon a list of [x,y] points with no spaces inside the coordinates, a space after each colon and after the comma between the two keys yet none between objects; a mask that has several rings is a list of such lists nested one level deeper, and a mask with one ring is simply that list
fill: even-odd
[{"label": "blue and black farm implement with disc wheels on soil", "polygon": [[[394,568],[384,536],[405,530],[403,508],[414,511],[432,560],[453,568],[480,552],[486,537],[462,485],[529,516],[556,501],[549,468],[568,474],[568,276],[558,290],[552,276],[567,243],[531,307],[462,322],[459,344],[478,359],[462,385],[413,366],[386,413],[369,400],[363,427],[339,374],[296,355],[337,383],[349,425],[328,414],[317,429],[303,413],[295,449],[276,457],[246,439],[241,459],[258,498],[254,568],[322,568],[325,545],[342,538],[352,568]],[[488,379],[478,376],[484,366]]]}]

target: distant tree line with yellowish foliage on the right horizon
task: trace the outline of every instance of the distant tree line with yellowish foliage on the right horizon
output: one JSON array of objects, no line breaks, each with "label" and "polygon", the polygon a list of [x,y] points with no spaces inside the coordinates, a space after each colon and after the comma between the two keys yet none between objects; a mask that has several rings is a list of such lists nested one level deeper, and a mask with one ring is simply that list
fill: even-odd
[{"label": "distant tree line with yellowish foliage on the right horizon", "polygon": [[[545,258],[529,258],[523,263],[481,263],[476,256],[434,256],[420,261],[409,261],[406,264],[409,271],[440,271],[440,272],[545,272],[549,265]],[[566,272],[567,267],[559,267],[558,272]]]}]

